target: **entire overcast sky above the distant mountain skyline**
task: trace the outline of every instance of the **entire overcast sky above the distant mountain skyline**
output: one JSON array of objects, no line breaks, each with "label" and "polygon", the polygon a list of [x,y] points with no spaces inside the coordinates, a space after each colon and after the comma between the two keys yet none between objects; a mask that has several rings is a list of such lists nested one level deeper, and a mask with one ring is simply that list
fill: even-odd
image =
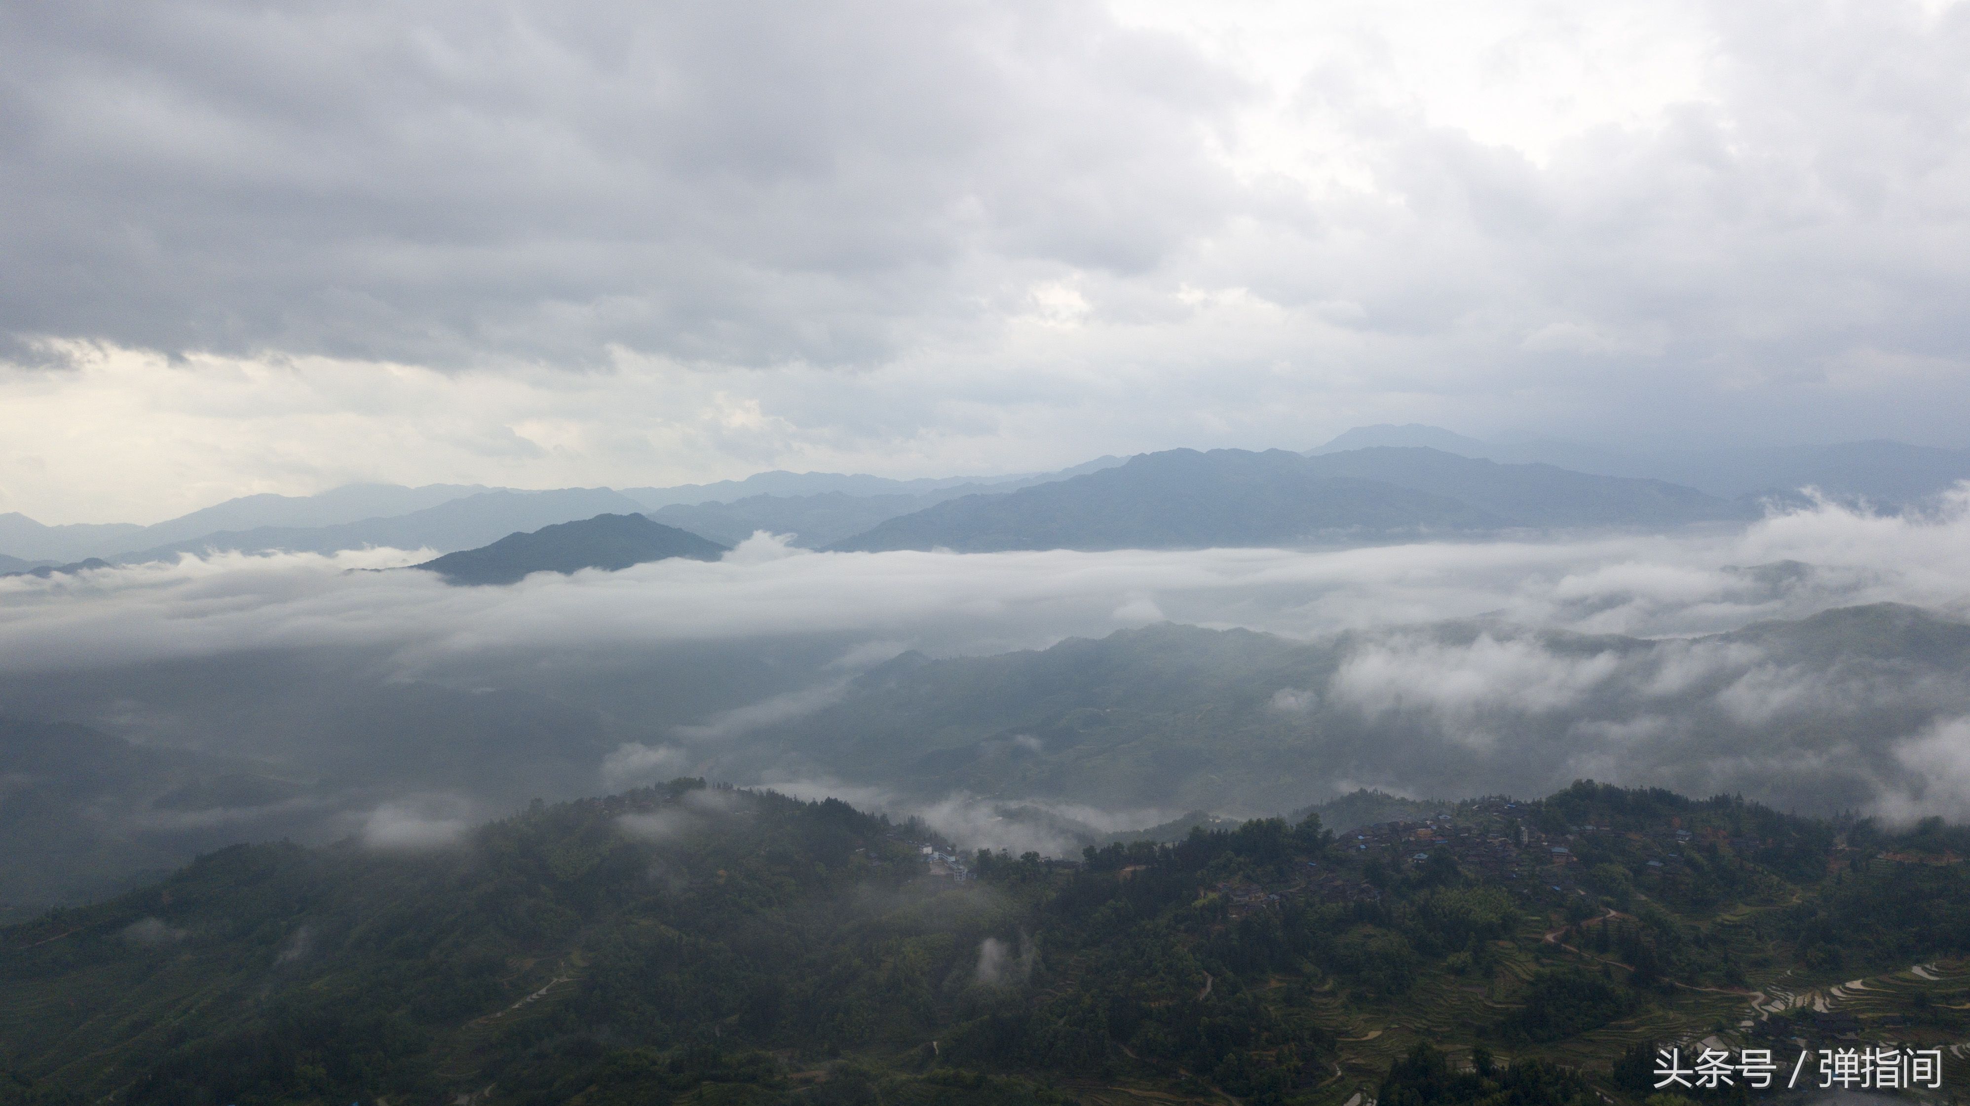
[{"label": "entire overcast sky above the distant mountain skyline", "polygon": [[0,6],[0,512],[1970,447],[1970,4]]}]

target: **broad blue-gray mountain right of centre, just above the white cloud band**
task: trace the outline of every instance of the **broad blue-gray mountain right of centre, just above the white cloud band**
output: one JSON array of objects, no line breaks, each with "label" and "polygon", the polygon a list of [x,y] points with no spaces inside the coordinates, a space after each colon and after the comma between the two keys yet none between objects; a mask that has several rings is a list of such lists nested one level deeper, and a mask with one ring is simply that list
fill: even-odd
[{"label": "broad blue-gray mountain right of centre, just above the white cloud band", "polygon": [[1743,510],[1694,488],[1420,447],[1328,457],[1174,449],[1072,480],[936,504],[835,549],[1184,549],[1732,518]]}]

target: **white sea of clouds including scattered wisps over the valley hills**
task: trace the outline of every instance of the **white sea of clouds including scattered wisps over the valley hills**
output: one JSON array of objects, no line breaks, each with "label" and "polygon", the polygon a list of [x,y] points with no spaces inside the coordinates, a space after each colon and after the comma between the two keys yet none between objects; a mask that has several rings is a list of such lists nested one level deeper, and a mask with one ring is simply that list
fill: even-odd
[{"label": "white sea of clouds including scattered wisps over the valley hills", "polygon": [[[1897,819],[1970,813],[1970,720],[1950,712],[1960,693],[1864,671],[1828,681],[1820,669],[1777,661],[1751,644],[1700,640],[1872,602],[1964,618],[1970,490],[1929,514],[1877,516],[1820,502],[1747,527],[1353,549],[810,553],[762,533],[717,563],[536,575],[494,588],[449,586],[404,569],[422,557],[426,551],[392,549],[213,555],[4,579],[0,675],[337,647],[366,651],[392,679],[420,679],[569,651],[788,638],[839,644],[790,691],[674,720],[664,738],[624,742],[595,768],[601,791],[688,771],[705,762],[705,748],[798,722],[835,703],[857,671],[904,649],[983,655],[1162,620],[1308,642],[1353,632],[1357,644],[1330,681],[1282,687],[1271,708],[1306,716],[1349,710],[1367,720],[1426,716],[1444,748],[1481,754],[1515,740],[1513,724],[1497,724],[1501,712],[1513,720],[1544,716],[1558,726],[1548,732],[1566,742],[1556,771],[1690,785],[1694,777],[1647,779],[1661,760],[1637,750],[1684,756],[1706,720],[1720,718],[1759,734],[1757,756],[1783,758],[1789,726],[1814,718],[1814,746],[1795,750],[1797,768],[1801,758],[1842,756],[1840,734],[1826,736],[1842,718],[1873,724],[1873,716],[1848,710],[1854,703],[1927,695],[1929,710],[1907,722],[1909,732],[1868,734],[1887,754],[1868,768],[1860,793],[1872,795],[1870,809]],[[1432,630],[1454,620],[1481,620],[1491,630]],[[1552,632],[1639,638],[1649,647],[1556,647]],[[1704,714],[1651,707],[1692,695]],[[1401,787],[1399,779],[1383,783]],[[1544,781],[1527,781],[1527,789],[1535,783]],[[894,801],[867,785],[833,791],[871,805]],[[1072,807],[1058,797],[1050,803]],[[1003,830],[1005,844],[1058,844],[1058,834],[1003,819],[995,801],[950,795],[910,809],[975,840]],[[1164,813],[1078,807],[1064,817],[1121,829],[1121,821]],[[435,829],[427,830],[427,821]],[[410,823],[418,827],[402,829]],[[414,842],[447,836],[455,823],[455,815],[408,819],[404,807],[386,805],[364,832]]]}]

